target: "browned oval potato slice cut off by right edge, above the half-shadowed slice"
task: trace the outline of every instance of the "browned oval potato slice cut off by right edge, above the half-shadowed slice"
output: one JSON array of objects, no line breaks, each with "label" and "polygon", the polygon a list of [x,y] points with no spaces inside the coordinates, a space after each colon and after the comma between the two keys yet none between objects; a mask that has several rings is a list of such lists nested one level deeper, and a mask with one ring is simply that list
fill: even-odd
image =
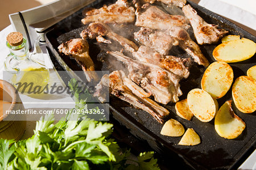
[{"label": "browned oval potato slice cut off by right edge, above the half-shadowed slice", "polygon": [[243,113],[256,111],[256,81],[250,76],[240,76],[232,87],[232,97],[237,109]]}]

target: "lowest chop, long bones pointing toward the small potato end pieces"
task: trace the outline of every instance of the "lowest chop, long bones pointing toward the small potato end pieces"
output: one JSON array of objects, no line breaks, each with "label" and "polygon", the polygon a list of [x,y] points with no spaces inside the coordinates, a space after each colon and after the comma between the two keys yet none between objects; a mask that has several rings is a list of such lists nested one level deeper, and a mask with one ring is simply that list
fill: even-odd
[{"label": "lowest chop, long bones pointing toward the small potato end pieces", "polygon": [[[166,108],[161,107],[155,101],[148,99],[148,94],[132,82],[123,71],[113,71],[109,77],[104,75],[101,82],[96,86],[96,93],[94,96],[101,97],[102,87],[109,84],[110,92],[119,99],[127,101],[134,105],[134,107],[141,108],[143,111],[150,113],[158,122],[164,123],[163,117],[170,112]],[[133,88],[130,88],[133,87]]]}]

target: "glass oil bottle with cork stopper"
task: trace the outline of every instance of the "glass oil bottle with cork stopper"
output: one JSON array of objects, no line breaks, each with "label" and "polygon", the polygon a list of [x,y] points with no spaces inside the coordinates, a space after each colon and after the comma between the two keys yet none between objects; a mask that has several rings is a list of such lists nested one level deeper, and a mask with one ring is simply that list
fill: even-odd
[{"label": "glass oil bottle with cork stopper", "polygon": [[[49,80],[49,71],[44,65],[43,55],[36,55],[36,53],[33,52],[30,56],[27,40],[20,32],[9,33],[6,40],[6,46],[10,50],[10,54],[6,57],[4,62],[5,70],[9,73],[7,79],[9,79],[19,91],[18,86],[24,83],[32,83],[32,87],[34,88],[36,86],[46,86]],[[40,48],[38,41],[39,39],[35,42],[35,49]],[[42,58],[38,59],[38,56]],[[33,88],[31,91],[33,91]],[[23,92],[27,93],[28,89]]]}]

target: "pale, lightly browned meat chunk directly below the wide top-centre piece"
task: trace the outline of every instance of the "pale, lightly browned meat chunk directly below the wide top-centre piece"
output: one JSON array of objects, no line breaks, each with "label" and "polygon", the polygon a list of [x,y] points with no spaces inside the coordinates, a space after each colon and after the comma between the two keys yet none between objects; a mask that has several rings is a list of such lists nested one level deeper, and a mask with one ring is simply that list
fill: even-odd
[{"label": "pale, lightly browned meat chunk directly below the wide top-centre piece", "polygon": [[164,32],[154,32],[150,28],[143,27],[140,31],[134,33],[134,39],[154,49],[161,55],[167,55],[172,45],[175,43],[175,40]]}]

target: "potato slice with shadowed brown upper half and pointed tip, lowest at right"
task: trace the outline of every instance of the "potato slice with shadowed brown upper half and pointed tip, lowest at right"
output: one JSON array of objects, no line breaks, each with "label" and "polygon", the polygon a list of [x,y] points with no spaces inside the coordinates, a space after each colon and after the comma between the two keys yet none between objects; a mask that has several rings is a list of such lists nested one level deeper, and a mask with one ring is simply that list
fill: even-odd
[{"label": "potato slice with shadowed brown upper half and pointed tip, lowest at right", "polygon": [[234,114],[231,103],[232,100],[226,101],[218,110],[214,120],[218,135],[226,139],[237,138],[245,129],[245,122]]}]

